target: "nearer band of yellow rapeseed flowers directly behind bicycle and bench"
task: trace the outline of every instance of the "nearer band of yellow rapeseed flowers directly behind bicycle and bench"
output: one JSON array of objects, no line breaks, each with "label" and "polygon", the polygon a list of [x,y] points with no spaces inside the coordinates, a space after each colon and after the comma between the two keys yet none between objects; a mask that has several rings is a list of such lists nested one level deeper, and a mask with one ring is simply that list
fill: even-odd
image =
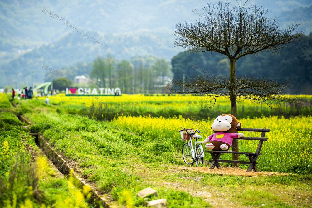
[{"label": "nearer band of yellow rapeseed flowers directly behind bicycle and bench", "polygon": [[[150,116],[119,116],[112,123],[116,126],[136,132],[148,140],[169,140],[181,150],[183,141],[178,132],[180,127],[198,128],[203,131],[202,141],[213,133],[211,124],[214,118],[207,121],[193,122],[182,116],[174,118],[152,118]],[[294,165],[312,165],[312,116],[298,116],[285,119],[277,116],[262,117],[254,119],[239,119],[243,128],[269,128],[266,133],[268,141],[265,141],[261,149],[262,155],[257,162],[260,170],[275,172],[290,172]],[[260,133],[244,132],[245,136],[260,137]],[[258,141],[239,140],[240,151],[256,151]],[[240,156],[247,160],[246,156]],[[231,155],[222,155],[221,159],[230,159]],[[210,155],[205,155],[205,159],[211,159]]]}]

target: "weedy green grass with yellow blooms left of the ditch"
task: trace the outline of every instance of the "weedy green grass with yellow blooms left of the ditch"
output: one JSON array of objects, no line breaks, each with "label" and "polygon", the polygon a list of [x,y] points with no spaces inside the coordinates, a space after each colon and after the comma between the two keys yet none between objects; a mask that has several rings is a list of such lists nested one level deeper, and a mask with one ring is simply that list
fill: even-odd
[{"label": "weedy green grass with yellow blooms left of the ditch", "polygon": [[[28,151],[39,152],[34,138],[23,128],[26,123],[21,123],[10,111],[16,109],[7,105],[0,109],[0,207],[88,207],[85,201],[75,201],[66,195],[66,191],[76,194],[80,191],[66,178],[55,177],[46,157],[33,160]],[[43,177],[48,181],[42,181]],[[80,199],[85,200],[82,194]]]}]

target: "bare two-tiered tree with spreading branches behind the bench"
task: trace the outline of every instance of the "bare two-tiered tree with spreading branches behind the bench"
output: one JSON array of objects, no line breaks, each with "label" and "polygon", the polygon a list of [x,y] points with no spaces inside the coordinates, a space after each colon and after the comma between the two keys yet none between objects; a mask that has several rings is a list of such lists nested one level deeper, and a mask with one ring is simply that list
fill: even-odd
[{"label": "bare two-tiered tree with spreading branches behind the bench", "polygon": [[[177,36],[174,46],[182,46],[191,52],[214,51],[226,55],[230,60],[229,77],[209,77],[195,75],[191,79],[174,79],[172,87],[176,93],[195,93],[215,100],[218,96],[228,96],[231,101],[231,113],[237,118],[237,99],[251,99],[259,103],[271,103],[272,100],[294,102],[293,98],[282,95],[287,82],[275,82],[267,78],[235,76],[235,62],[247,54],[267,50],[279,52],[286,43],[300,40],[303,31],[297,31],[298,23],[281,30],[276,18],[269,19],[265,7],[245,7],[248,0],[236,0],[237,6],[230,7],[229,1],[220,1],[216,5],[207,4],[205,21],[195,24],[185,22],[176,24]],[[213,93],[213,95],[212,95]],[[272,106],[271,106],[272,107]],[[233,140],[233,151],[238,151],[238,140]],[[238,160],[238,154],[233,154]],[[233,164],[238,166],[238,164]]]}]

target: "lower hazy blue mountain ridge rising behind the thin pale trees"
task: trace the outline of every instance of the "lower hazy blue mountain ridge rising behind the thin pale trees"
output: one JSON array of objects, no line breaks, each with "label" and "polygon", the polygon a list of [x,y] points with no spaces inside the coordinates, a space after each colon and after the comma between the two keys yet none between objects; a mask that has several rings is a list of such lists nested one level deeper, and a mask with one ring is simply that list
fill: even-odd
[{"label": "lower hazy blue mountain ridge rising behind the thin pale trees", "polygon": [[[129,60],[133,56],[147,55],[170,60],[181,51],[172,46],[173,40],[168,33],[145,30],[115,35],[94,32],[87,36],[89,38],[82,36],[80,31],[77,34],[67,33],[51,44],[37,47],[2,64],[0,83],[5,83],[7,78],[17,80],[18,83],[24,83],[24,80],[27,80],[29,83],[32,72],[34,83],[43,82],[45,70],[42,66],[44,64],[58,69],[77,62],[91,62],[96,56],[106,57],[107,53],[117,60]],[[92,37],[96,37],[99,43],[91,41]]]}]

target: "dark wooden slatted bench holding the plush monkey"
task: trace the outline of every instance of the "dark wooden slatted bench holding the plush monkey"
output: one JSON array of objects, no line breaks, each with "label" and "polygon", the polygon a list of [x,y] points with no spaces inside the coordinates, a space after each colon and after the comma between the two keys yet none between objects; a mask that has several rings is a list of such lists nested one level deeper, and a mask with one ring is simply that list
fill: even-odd
[{"label": "dark wooden slatted bench holding the plush monkey", "polygon": [[[249,164],[249,167],[247,169],[247,172],[251,172],[251,170],[254,170],[255,172],[258,172],[256,164],[258,164],[257,159],[259,155],[262,155],[260,153],[263,141],[267,141],[268,138],[264,137],[266,132],[269,132],[270,129],[264,127],[264,128],[238,128],[237,131],[249,131],[249,132],[261,132],[261,137],[241,137],[241,138],[235,138],[235,139],[244,139],[244,140],[259,140],[258,147],[256,149],[256,152],[232,152],[232,151],[215,151],[215,150],[205,150],[205,152],[209,152],[212,157],[212,163],[209,167],[209,169],[213,169],[214,167],[220,168],[219,162],[228,162],[228,163],[239,163],[239,164]],[[221,154],[245,154],[249,161],[240,161],[240,160],[220,160]]]}]

